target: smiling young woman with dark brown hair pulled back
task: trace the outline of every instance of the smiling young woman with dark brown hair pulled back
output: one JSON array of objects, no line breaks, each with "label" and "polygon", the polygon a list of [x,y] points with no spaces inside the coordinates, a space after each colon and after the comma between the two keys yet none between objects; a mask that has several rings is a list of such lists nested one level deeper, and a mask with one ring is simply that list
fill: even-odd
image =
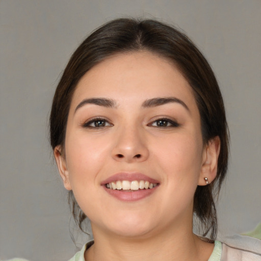
[{"label": "smiling young woman with dark brown hair pulled back", "polygon": [[117,19],[92,33],[57,87],[50,143],[73,217],[81,229],[88,217],[94,237],[71,260],[259,258],[214,243],[223,100],[210,65],[172,27]]}]

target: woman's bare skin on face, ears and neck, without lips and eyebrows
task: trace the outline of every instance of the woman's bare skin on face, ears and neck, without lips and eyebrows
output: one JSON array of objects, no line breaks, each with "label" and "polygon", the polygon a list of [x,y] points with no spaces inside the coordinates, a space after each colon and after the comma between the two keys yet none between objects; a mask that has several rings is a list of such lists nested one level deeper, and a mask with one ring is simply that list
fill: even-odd
[{"label": "woman's bare skin on face, ears and neck, without lips and eyebrows", "polygon": [[[159,97],[185,105],[142,107]],[[89,98],[111,99],[115,107],[79,107]],[[88,123],[93,117],[105,126]],[[167,126],[157,125],[162,118]],[[55,149],[65,188],[91,220],[95,244],[85,259],[207,260],[214,245],[192,232],[193,197],[198,185],[206,185],[204,177],[211,182],[216,176],[219,144],[218,137],[203,144],[192,89],[168,60],[145,51],[119,54],[88,71],[72,97],[65,154]],[[101,182],[122,171],[160,185],[141,200],[121,201]]]}]

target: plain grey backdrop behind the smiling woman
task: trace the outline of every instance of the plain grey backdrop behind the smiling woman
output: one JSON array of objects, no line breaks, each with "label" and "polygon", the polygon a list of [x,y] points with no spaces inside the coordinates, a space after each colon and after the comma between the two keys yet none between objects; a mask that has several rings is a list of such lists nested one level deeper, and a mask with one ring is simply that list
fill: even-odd
[{"label": "plain grey backdrop behind the smiling woman", "polygon": [[[253,229],[261,216],[260,14],[260,0],[1,1],[0,258],[73,255],[67,194],[48,144],[51,99],[76,46],[103,22],[126,15],[175,24],[210,61],[232,144],[219,234]],[[80,236],[76,245],[86,240]]]}]

